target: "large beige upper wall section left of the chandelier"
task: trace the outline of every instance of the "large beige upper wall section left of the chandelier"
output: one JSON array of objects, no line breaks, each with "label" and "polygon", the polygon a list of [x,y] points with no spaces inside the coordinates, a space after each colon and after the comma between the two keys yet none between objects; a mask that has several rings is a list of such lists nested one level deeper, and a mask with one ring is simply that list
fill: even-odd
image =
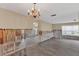
[{"label": "large beige upper wall section left of the chandelier", "polygon": [[30,20],[17,13],[0,9],[0,28],[25,29],[30,28]]}]

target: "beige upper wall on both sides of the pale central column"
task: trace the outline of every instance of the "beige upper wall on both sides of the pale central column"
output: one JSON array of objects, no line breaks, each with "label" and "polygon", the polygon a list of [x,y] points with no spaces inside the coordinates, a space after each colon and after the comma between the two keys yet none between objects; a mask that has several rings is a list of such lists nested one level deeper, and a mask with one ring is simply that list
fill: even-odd
[{"label": "beige upper wall on both sides of the pale central column", "polygon": [[[30,16],[23,16],[18,13],[0,9],[0,28],[9,29],[32,29],[34,20]],[[52,30],[52,24],[40,21],[40,30]]]}]

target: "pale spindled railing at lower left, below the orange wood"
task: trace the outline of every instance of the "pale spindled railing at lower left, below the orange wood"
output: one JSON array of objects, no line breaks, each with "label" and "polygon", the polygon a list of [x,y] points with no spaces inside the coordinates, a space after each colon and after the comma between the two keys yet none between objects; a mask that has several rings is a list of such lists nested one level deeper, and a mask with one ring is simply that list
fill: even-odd
[{"label": "pale spindled railing at lower left, below the orange wood", "polygon": [[11,51],[15,51],[17,49],[16,43],[20,43],[20,42],[21,40],[17,40],[17,41],[7,42],[5,44],[0,45],[1,47],[0,55],[5,55],[7,53],[10,53]]}]

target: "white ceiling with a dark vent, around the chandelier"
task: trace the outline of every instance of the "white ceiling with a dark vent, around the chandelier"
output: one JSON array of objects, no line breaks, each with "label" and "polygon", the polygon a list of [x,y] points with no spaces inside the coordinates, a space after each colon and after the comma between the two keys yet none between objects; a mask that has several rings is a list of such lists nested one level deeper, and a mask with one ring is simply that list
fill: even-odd
[{"label": "white ceiling with a dark vent, around the chandelier", "polygon": [[[32,3],[0,3],[0,8],[27,16],[27,10],[31,9]],[[40,18],[43,21],[55,24],[79,21],[79,4],[78,3],[37,3],[40,9]],[[51,17],[50,15],[56,14]],[[73,21],[76,19],[76,21]]]}]

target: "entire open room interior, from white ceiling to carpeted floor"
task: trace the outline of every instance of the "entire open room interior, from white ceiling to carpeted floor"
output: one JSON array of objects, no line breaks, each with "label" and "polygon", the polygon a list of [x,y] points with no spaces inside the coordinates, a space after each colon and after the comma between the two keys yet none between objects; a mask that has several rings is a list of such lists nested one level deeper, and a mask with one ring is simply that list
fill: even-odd
[{"label": "entire open room interior, from white ceiling to carpeted floor", "polygon": [[77,56],[79,3],[0,3],[1,56]]}]

